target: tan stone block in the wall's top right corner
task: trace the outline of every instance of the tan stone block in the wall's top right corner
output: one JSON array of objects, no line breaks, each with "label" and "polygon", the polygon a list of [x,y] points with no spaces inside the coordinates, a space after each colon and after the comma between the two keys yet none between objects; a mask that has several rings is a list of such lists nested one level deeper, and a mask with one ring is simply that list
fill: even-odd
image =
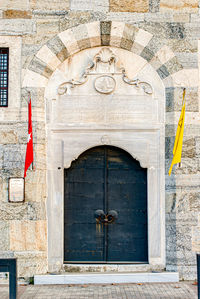
[{"label": "tan stone block in the wall's top right corner", "polygon": [[160,0],[160,11],[198,12],[198,0]]}]

